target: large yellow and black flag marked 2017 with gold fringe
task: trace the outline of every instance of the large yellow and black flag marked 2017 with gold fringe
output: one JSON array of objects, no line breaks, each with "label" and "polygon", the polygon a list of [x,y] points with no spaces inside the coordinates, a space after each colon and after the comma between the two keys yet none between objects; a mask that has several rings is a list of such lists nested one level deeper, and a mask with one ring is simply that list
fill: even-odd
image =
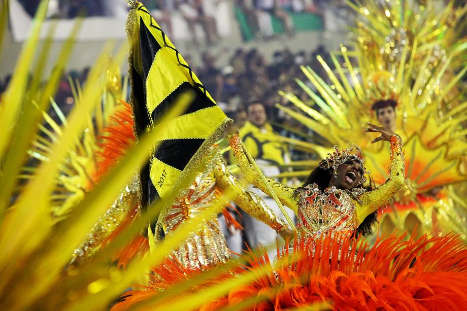
[{"label": "large yellow and black flag marked 2017 with gold fringe", "polygon": [[[230,121],[147,9],[129,2],[130,101],[138,135],[158,125],[180,94],[192,92],[186,111],[164,123],[160,144],[142,169],[143,204],[164,198],[220,136]],[[166,125],[166,126],[165,126]]]}]

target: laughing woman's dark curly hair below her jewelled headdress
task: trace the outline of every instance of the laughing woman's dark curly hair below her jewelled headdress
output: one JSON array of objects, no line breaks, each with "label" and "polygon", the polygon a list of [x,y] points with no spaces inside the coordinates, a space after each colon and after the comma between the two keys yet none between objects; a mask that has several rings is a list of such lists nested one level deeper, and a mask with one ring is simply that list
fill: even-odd
[{"label": "laughing woman's dark curly hair below her jewelled headdress", "polygon": [[[308,186],[310,184],[315,183],[318,185],[321,191],[327,188],[329,185],[329,181],[331,180],[331,173],[330,169],[324,169],[321,167],[316,167],[312,170],[310,176],[305,181],[303,186]],[[373,190],[372,186],[364,187],[367,191]],[[362,221],[362,223],[355,229],[353,236],[361,235],[371,235],[373,234],[373,225],[378,222],[378,212],[375,211],[370,215],[366,216],[366,218]]]}]

